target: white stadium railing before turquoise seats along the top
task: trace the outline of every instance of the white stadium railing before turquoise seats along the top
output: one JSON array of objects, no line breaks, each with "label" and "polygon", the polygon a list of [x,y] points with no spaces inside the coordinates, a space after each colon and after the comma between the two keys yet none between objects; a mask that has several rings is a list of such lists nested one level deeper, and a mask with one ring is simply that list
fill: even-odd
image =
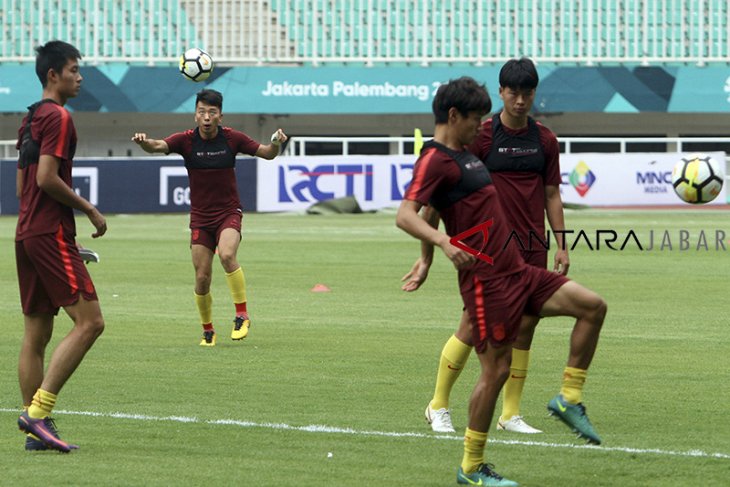
[{"label": "white stadium railing before turquoise seats along the top", "polygon": [[62,38],[87,62],[726,64],[726,0],[0,0],[0,62]]}]

